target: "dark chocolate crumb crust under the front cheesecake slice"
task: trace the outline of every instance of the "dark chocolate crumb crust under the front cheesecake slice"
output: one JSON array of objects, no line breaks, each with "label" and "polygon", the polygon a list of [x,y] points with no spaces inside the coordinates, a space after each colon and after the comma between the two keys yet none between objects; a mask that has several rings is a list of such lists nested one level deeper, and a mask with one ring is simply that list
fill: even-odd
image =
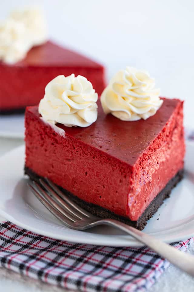
[{"label": "dark chocolate crumb crust under the front cheesecake slice", "polygon": [[[164,189],[155,197],[155,199],[149,204],[143,214],[139,217],[137,221],[131,221],[129,218],[122,217],[116,215],[112,211],[104,209],[98,205],[87,203],[66,189],[63,189],[59,186],[63,193],[65,193],[68,197],[70,197],[74,202],[76,202],[80,207],[89,211],[90,213],[101,217],[101,218],[111,218],[119,220],[123,223],[131,225],[139,230],[142,230],[146,225],[147,221],[156,213],[158,208],[162,205],[163,201],[170,196],[171,190],[176,186],[176,184],[183,178],[183,169],[179,170],[177,174],[167,183]],[[25,166],[25,174],[27,174],[32,180],[38,181],[40,176],[38,176],[35,172]]]}]

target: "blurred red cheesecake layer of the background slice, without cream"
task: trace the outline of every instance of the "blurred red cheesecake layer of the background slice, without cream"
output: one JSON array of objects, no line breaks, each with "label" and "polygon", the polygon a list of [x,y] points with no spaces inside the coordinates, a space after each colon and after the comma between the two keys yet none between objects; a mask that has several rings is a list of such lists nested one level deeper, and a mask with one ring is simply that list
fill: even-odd
[{"label": "blurred red cheesecake layer of the background slice, without cream", "polygon": [[18,63],[0,62],[0,71],[2,111],[39,103],[45,84],[57,75],[83,75],[99,95],[105,87],[102,65],[52,42],[33,47]]}]

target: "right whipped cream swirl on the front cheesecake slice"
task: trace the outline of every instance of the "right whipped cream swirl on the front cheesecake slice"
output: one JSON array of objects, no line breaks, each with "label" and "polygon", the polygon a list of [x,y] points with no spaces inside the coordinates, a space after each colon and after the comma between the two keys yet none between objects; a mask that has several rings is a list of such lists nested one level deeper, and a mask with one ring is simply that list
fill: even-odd
[{"label": "right whipped cream swirl on the front cheesecake slice", "polygon": [[101,95],[105,113],[124,121],[146,120],[162,105],[160,90],[149,73],[127,67],[111,79]]}]

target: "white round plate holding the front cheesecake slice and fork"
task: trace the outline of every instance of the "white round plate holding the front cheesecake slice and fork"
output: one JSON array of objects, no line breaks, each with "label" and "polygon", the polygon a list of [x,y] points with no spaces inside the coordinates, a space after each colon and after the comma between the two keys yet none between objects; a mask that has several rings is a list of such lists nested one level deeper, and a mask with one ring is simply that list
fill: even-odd
[{"label": "white round plate holding the front cheesecake slice and fork", "polygon": [[[143,232],[165,242],[176,242],[194,236],[193,153],[194,143],[187,143],[185,178],[148,221]],[[26,186],[28,179],[23,176],[24,156],[24,146],[20,146],[0,158],[0,215],[22,228],[52,238],[95,245],[142,245],[131,236],[108,226],[87,231],[64,227]]]}]

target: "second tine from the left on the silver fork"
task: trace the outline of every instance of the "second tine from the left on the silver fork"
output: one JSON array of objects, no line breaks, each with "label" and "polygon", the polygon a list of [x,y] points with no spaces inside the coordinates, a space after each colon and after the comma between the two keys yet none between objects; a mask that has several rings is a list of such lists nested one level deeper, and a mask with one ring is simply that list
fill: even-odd
[{"label": "second tine from the left on the silver fork", "polygon": [[42,196],[44,196],[44,198],[52,205],[52,207],[54,207],[59,213],[61,213],[62,215],[64,215],[65,217],[69,218],[70,220],[72,220],[73,222],[76,221],[75,216],[72,216],[71,214],[69,214],[68,212],[66,212],[58,203],[55,202],[55,200],[52,199],[52,197],[50,197],[44,189],[42,189],[42,187],[35,181],[33,181],[33,187],[35,190],[37,190]]}]

